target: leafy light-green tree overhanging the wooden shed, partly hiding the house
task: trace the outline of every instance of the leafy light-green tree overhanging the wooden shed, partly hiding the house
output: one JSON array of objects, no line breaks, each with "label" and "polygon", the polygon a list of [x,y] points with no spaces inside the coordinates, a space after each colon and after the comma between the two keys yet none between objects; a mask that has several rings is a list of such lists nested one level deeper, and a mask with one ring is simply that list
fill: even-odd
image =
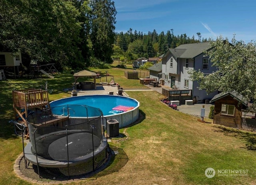
[{"label": "leafy light-green tree overhanging the wooden shed, partly hiding the house", "polygon": [[234,38],[231,43],[228,38],[220,36],[216,41],[210,40],[210,48],[205,51],[216,71],[204,74],[201,71],[191,71],[192,80],[198,80],[200,89],[207,92],[236,91],[243,95],[246,101],[253,101],[249,110],[256,111],[256,43],[246,44]]}]

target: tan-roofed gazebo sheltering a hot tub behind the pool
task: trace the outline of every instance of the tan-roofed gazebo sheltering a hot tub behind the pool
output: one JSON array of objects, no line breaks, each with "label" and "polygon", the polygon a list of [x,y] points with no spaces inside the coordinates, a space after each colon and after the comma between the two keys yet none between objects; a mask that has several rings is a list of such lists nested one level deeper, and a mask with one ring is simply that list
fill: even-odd
[{"label": "tan-roofed gazebo sheltering a hot tub behind the pool", "polygon": [[82,90],[90,90],[90,89],[96,89],[96,73],[90,72],[87,70],[82,70],[80,72],[75,73],[74,75],[75,78],[75,89],[76,89],[76,84],[77,84],[77,79],[80,77],[92,77],[94,82],[80,82],[80,89]]}]

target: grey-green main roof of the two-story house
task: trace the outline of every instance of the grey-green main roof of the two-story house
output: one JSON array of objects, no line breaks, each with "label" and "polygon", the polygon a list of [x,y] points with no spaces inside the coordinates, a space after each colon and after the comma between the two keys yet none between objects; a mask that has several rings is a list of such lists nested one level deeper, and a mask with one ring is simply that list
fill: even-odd
[{"label": "grey-green main roof of the two-story house", "polygon": [[[193,44],[182,44],[174,49],[169,49],[176,58],[194,58],[203,53],[203,50],[210,48],[209,42],[199,42]],[[166,52],[166,54],[168,53]],[[164,56],[166,56],[164,54]]]}]

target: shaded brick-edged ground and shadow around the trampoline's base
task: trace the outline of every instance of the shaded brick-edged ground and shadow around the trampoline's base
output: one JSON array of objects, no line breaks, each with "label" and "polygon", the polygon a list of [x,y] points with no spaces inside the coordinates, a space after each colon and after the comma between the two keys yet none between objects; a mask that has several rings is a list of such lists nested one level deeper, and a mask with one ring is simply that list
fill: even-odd
[{"label": "shaded brick-edged ground and shadow around the trampoline's base", "polygon": [[[38,168],[36,165],[32,163],[28,163],[27,167],[25,167],[24,157],[20,161],[20,171],[25,177],[36,179],[40,181],[66,181],[69,179],[97,179],[98,177],[102,177],[108,175],[110,173],[114,173],[119,171],[126,163],[128,162],[128,156],[126,153],[118,148],[118,147],[108,147],[108,158],[103,160],[104,164],[98,163],[95,167],[96,169],[93,171],[92,161],[86,161],[85,163],[78,164],[76,166],[70,166],[63,168],[46,168],[40,167],[40,177],[38,174]],[[69,171],[69,172],[68,172]],[[89,173],[83,173],[84,171],[91,171]],[[70,173],[70,176],[68,176]],[[75,175],[76,173],[80,175]]]}]

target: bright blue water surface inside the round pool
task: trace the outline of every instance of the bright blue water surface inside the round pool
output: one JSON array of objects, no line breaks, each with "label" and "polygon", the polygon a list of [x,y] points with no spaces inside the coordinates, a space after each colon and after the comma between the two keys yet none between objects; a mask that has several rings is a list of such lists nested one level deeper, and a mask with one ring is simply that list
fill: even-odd
[{"label": "bright blue water surface inside the round pool", "polygon": [[112,108],[119,105],[135,108],[139,105],[139,102],[136,99],[132,99],[130,97],[116,95],[74,96],[50,102],[50,106],[54,114],[67,115],[67,110],[69,110],[70,115],[75,117],[98,115],[98,111],[95,111],[93,108],[90,109],[90,107],[96,107],[100,109],[104,116],[122,113],[122,111],[112,110]]}]

